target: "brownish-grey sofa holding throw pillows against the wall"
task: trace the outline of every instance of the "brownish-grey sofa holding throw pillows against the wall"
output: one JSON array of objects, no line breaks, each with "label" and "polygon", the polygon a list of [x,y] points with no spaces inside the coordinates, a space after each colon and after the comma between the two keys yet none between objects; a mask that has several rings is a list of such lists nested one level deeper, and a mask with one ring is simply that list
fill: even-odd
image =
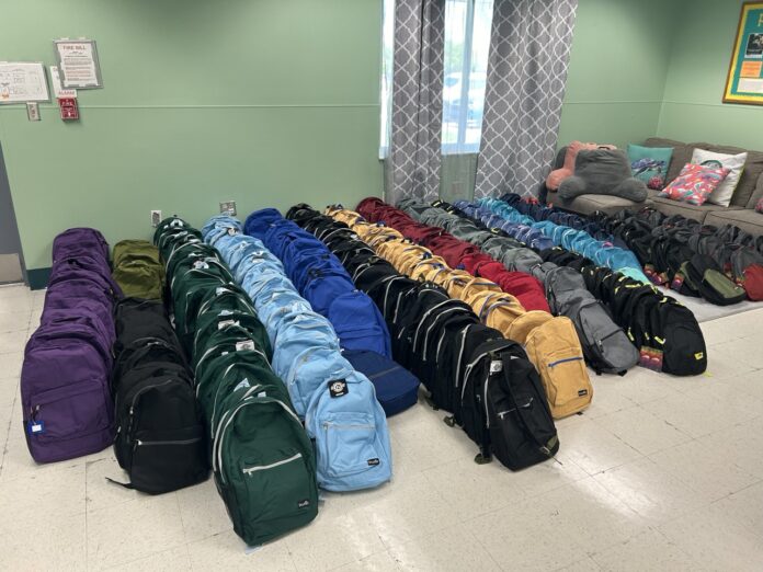
[{"label": "brownish-grey sofa holding throw pillows against the wall", "polygon": [[[755,211],[755,203],[763,197],[763,152],[706,142],[684,144],[659,137],[647,139],[644,146],[673,148],[673,158],[665,179],[668,182],[675,179],[683,165],[691,161],[692,153],[696,148],[727,155],[737,155],[747,151],[748,160],[744,165],[744,172],[733,193],[731,204],[728,207],[713,205],[710,203],[695,206],[688,203],[658,197],[659,191],[649,191],[649,197],[644,203],[634,203],[627,198],[606,195],[581,195],[572,201],[562,201],[557,193],[548,192],[545,198],[546,203],[581,215],[590,215],[594,210],[602,210],[610,215],[614,215],[624,208],[637,210],[648,205],[669,216],[683,215],[688,218],[694,218],[704,225],[713,225],[716,227],[736,225],[751,234],[763,236],[763,214]],[[559,150],[554,165],[555,169],[560,168],[565,163],[566,152],[566,147]]]}]

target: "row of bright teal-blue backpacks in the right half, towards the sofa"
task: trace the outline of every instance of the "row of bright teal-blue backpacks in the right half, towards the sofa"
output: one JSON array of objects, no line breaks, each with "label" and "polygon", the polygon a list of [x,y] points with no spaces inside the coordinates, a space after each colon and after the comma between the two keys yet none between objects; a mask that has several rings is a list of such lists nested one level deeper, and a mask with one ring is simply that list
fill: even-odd
[{"label": "row of bright teal-blue backpacks in the right half, towards the sofa", "polygon": [[[455,206],[463,207],[466,204],[456,202]],[[618,271],[645,283],[648,282],[647,276],[641,272],[637,256],[628,249],[616,247],[606,240],[596,240],[582,229],[556,224],[551,220],[535,220],[499,198],[480,198],[477,201],[477,206],[494,215],[494,218],[489,222],[491,227],[502,228],[512,234],[524,231],[523,227],[526,227],[531,232],[550,239],[554,245],[582,254],[600,266]],[[522,226],[517,227],[517,224]],[[506,225],[508,228],[504,228]],[[525,242],[527,241],[525,240]]]}]

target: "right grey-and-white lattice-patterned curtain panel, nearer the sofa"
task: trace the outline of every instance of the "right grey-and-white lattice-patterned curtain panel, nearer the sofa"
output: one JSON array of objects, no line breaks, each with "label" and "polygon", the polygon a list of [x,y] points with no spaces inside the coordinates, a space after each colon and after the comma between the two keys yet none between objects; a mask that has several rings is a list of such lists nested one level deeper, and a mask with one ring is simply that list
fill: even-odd
[{"label": "right grey-and-white lattice-patterned curtain panel, nearer the sofa", "polygon": [[535,195],[550,172],[578,0],[496,0],[475,196]]}]

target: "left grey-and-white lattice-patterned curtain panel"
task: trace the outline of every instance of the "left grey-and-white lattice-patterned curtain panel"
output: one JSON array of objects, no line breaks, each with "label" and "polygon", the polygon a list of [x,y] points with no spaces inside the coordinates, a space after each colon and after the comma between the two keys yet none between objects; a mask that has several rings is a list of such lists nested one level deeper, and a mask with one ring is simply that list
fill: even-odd
[{"label": "left grey-and-white lattice-patterned curtain panel", "polygon": [[395,2],[390,148],[385,199],[437,198],[443,115],[444,0]]}]

